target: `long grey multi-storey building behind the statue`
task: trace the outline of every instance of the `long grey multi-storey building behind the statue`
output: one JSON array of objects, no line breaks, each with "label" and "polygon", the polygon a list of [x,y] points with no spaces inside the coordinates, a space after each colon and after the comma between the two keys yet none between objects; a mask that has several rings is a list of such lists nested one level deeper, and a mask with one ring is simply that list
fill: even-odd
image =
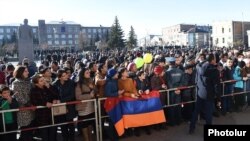
[{"label": "long grey multi-storey building behind the statue", "polygon": [[[18,39],[18,25],[0,26],[0,43],[11,40],[16,34]],[[38,26],[32,26],[34,34],[35,50],[41,49],[79,49],[79,35],[84,33],[86,46],[94,46],[98,40],[107,40],[110,27],[85,27],[72,21],[38,20]],[[37,44],[37,45],[36,45]]]}]

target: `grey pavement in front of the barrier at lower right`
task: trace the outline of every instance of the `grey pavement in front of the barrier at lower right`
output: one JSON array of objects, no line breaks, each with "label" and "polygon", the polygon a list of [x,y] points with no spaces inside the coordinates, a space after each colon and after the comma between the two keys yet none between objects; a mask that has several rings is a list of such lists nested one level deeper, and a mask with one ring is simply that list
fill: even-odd
[{"label": "grey pavement in front of the barrier at lower right", "polygon": [[[226,116],[213,118],[213,124],[218,125],[250,125],[250,107],[247,107],[242,112],[228,113]],[[195,133],[188,134],[189,123],[184,122],[179,126],[169,127],[168,130],[156,131],[151,130],[151,135],[146,135],[141,132],[140,137],[121,138],[120,141],[203,141],[203,125],[204,120],[197,122]]]}]

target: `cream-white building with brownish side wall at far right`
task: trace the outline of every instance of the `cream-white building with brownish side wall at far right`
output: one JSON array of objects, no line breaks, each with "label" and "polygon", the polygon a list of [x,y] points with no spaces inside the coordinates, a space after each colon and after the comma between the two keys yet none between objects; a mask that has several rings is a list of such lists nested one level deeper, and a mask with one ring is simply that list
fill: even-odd
[{"label": "cream-white building with brownish side wall at far right", "polygon": [[250,22],[219,21],[213,23],[213,45],[216,47],[247,46]]}]

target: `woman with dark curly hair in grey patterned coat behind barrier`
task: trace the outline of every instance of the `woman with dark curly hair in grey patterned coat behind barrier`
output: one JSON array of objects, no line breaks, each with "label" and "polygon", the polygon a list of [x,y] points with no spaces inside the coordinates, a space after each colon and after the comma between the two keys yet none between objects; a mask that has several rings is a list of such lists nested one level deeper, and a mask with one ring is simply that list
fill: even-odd
[{"label": "woman with dark curly hair in grey patterned coat behind barrier", "polygon": [[[12,84],[13,91],[19,107],[29,107],[31,83],[28,78],[29,71],[24,66],[19,66],[14,71],[15,81]],[[34,112],[32,110],[23,110],[17,112],[17,123],[21,129],[30,128],[33,126]],[[32,130],[21,131],[20,141],[32,141]]]}]

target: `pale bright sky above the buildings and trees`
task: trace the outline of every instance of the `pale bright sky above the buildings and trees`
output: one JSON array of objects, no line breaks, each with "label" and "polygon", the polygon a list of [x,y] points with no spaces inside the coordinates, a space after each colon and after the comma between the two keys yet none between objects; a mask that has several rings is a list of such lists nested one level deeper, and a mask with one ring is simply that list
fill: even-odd
[{"label": "pale bright sky above the buildings and trees", "polygon": [[39,19],[111,26],[117,16],[125,37],[133,26],[138,38],[181,23],[250,21],[249,0],[0,0],[0,5],[0,25],[27,18],[36,26]]}]

